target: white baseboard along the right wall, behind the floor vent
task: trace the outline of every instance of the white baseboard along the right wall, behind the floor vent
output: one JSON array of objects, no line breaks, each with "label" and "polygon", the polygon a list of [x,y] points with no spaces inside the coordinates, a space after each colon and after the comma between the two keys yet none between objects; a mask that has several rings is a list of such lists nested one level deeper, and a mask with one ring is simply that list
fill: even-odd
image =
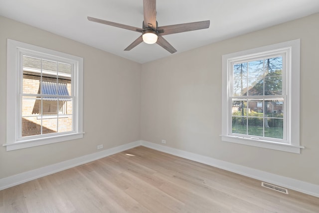
[{"label": "white baseboard along the right wall, behind the floor vent", "polygon": [[302,192],[308,195],[319,197],[319,185],[310,184],[307,182],[299,181],[292,178],[287,178],[279,175],[275,175],[268,172],[263,172],[260,170],[252,169],[249,167],[240,166],[237,164],[229,163],[226,161],[217,160],[207,156],[202,156],[167,146],[162,146],[160,144],[151,143],[148,141],[141,141],[141,145],[155,149],[164,153],[175,155],[181,158],[189,159],[199,163],[203,163],[209,166],[217,167],[223,170],[234,172],[240,175],[244,175],[250,178],[254,178],[263,182],[274,184],[277,186],[285,187],[291,190]]}]

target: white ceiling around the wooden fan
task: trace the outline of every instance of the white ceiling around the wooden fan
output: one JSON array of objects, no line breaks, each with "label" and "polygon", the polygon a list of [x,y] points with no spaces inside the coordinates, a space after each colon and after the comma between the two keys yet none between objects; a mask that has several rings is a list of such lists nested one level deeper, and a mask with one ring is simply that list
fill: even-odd
[{"label": "white ceiling around the wooden fan", "polygon": [[[210,20],[208,29],[163,37],[183,52],[319,12],[319,0],[157,0],[159,26]],[[142,28],[143,0],[0,0],[0,15],[145,63],[170,53],[158,44],[124,49],[139,32],[87,16]]]}]

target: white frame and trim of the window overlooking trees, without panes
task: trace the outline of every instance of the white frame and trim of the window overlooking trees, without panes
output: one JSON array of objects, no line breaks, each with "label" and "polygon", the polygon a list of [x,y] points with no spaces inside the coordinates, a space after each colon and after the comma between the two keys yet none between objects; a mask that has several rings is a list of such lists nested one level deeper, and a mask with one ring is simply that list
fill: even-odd
[{"label": "white frame and trim of the window overlooking trees, without panes", "polygon": [[[283,53],[283,95],[286,98],[284,139],[259,139],[232,134],[232,68],[236,61],[253,60],[271,54]],[[287,61],[286,61],[287,60]],[[286,67],[286,69],[284,68]],[[300,153],[300,39],[230,53],[222,56],[222,141],[267,149]]]}]

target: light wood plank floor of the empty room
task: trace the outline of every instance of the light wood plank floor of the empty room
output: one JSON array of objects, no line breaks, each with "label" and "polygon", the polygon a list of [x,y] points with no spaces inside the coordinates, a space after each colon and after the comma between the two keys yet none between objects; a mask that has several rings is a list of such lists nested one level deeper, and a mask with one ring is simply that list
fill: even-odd
[{"label": "light wood plank floor of the empty room", "polygon": [[146,147],[0,191],[1,213],[319,213],[319,198]]}]

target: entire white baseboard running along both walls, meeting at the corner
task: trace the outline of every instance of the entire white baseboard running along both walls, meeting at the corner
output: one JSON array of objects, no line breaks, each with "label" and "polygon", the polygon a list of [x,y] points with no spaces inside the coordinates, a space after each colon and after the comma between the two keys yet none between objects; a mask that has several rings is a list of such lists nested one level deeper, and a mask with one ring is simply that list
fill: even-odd
[{"label": "entire white baseboard running along both walls, meeting at the corner", "polygon": [[123,152],[125,150],[132,149],[134,147],[138,147],[141,145],[151,149],[161,151],[161,152],[165,152],[171,155],[175,155],[181,158],[189,159],[189,160],[203,163],[209,166],[217,167],[223,170],[244,175],[250,178],[254,178],[263,182],[267,182],[270,184],[274,184],[274,185],[292,189],[298,192],[302,192],[308,195],[319,197],[319,186],[315,184],[310,184],[310,183],[298,181],[292,178],[287,178],[287,177],[271,174],[268,172],[252,169],[249,167],[244,167],[237,164],[229,163],[226,161],[217,160],[207,156],[202,156],[202,155],[170,148],[167,146],[162,146],[162,145],[151,143],[148,141],[135,141],[122,146],[103,150],[101,152],[96,152],[96,153],[85,155],[79,158],[63,161],[61,163],[53,164],[50,166],[20,173],[10,177],[2,178],[0,179],[0,190],[4,190],[9,187],[13,187],[28,181],[35,180],[37,178],[41,178],[56,172],[60,172],[60,171],[70,169],[72,167],[76,167],[91,161],[95,161],[110,155],[114,155],[116,153]]}]

